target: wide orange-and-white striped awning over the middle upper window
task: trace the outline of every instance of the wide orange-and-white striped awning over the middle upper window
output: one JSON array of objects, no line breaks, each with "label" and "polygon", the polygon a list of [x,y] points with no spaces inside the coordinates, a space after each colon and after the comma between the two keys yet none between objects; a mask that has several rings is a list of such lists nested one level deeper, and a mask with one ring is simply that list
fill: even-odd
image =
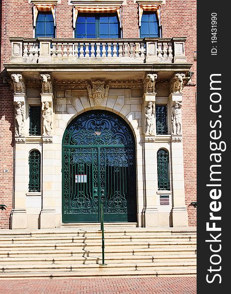
[{"label": "wide orange-and-white striped awning over the middle upper window", "polygon": [[78,7],[73,6],[73,27],[75,28],[78,13],[117,13],[120,27],[121,22],[121,6],[115,7]]}]

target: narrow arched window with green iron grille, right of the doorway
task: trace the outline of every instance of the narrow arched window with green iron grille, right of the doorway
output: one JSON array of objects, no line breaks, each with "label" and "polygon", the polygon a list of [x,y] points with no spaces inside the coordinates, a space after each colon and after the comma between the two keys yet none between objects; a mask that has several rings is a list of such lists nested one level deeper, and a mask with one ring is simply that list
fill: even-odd
[{"label": "narrow arched window with green iron grille, right of the doorway", "polygon": [[157,152],[158,190],[170,190],[169,152],[159,149]]}]

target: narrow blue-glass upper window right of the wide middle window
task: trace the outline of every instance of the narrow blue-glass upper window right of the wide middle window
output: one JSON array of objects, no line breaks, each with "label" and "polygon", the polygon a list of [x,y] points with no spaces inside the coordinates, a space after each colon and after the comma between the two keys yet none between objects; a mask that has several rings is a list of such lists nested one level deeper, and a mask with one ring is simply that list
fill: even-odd
[{"label": "narrow blue-glass upper window right of the wide middle window", "polygon": [[141,19],[140,37],[158,38],[159,36],[159,22],[156,13],[144,11]]}]

